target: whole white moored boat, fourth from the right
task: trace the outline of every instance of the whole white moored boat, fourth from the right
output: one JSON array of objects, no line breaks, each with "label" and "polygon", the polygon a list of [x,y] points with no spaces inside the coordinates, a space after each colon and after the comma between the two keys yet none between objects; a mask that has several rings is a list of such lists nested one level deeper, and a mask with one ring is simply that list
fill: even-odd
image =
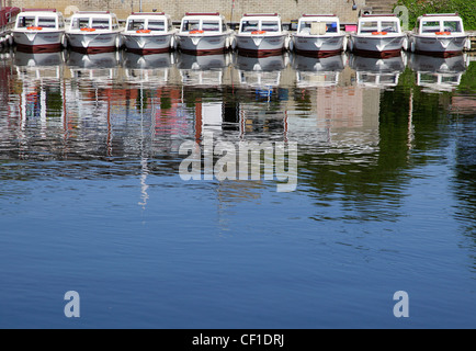
[{"label": "whole white moored boat, fourth from the right", "polygon": [[240,20],[234,46],[246,56],[280,55],[288,49],[290,39],[277,13],[247,13]]}]

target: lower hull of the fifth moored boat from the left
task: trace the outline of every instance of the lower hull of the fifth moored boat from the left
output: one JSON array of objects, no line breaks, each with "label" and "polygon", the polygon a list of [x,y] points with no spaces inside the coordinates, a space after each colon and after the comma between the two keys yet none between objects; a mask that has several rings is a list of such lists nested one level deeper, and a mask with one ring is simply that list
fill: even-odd
[{"label": "lower hull of the fifth moored boat from the left", "polygon": [[285,50],[287,34],[280,35],[252,35],[238,34],[236,47],[240,55],[269,56],[281,55]]}]

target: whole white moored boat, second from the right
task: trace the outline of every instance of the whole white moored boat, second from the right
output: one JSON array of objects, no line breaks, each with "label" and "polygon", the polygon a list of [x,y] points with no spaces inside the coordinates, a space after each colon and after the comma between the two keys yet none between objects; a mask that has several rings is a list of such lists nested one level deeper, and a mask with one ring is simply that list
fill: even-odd
[{"label": "whole white moored boat, second from the right", "polygon": [[369,56],[398,56],[406,39],[394,14],[363,14],[356,33],[350,34],[349,50]]}]

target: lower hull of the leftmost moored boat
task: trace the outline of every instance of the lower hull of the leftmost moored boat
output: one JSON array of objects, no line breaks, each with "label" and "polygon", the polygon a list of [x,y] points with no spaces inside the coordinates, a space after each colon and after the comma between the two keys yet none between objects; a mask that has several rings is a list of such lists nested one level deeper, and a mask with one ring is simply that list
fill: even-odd
[{"label": "lower hull of the leftmost moored boat", "polygon": [[13,31],[13,41],[20,50],[48,53],[61,49],[64,31]]}]

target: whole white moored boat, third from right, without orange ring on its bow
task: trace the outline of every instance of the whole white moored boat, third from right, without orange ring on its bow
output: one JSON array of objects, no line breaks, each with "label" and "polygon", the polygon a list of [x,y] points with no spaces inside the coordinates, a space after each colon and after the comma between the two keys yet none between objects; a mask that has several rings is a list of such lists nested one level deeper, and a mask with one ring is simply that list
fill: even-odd
[{"label": "whole white moored boat, third from right, without orange ring on its bow", "polygon": [[333,14],[303,14],[293,34],[291,49],[299,55],[329,56],[344,50],[345,33],[340,31],[339,18]]}]

